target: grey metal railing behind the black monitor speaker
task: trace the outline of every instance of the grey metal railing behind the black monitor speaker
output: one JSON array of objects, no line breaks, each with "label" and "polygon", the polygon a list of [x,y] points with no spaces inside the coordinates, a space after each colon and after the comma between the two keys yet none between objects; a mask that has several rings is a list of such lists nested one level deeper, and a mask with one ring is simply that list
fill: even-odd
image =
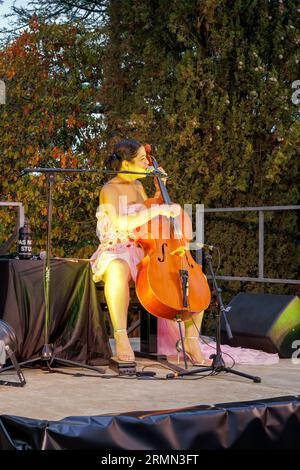
[{"label": "grey metal railing behind the black monitor speaker", "polygon": [[[216,276],[217,279],[224,281],[246,281],[246,282],[263,282],[273,284],[300,284],[299,279],[273,279],[264,277],[264,224],[266,211],[286,211],[286,210],[299,210],[300,206],[262,206],[262,207],[225,207],[219,209],[204,209],[198,213],[200,220],[198,221],[197,239],[204,242],[204,224],[205,214],[208,213],[221,213],[221,212],[258,212],[258,277],[244,277],[244,276]],[[199,233],[200,230],[200,233]],[[208,276],[209,277],[209,276]]]}]

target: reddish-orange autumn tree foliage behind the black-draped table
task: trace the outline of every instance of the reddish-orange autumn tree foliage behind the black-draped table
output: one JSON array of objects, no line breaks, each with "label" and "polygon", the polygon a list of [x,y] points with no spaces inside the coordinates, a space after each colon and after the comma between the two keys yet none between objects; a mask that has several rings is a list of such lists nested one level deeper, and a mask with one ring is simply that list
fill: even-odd
[{"label": "reddish-orange autumn tree foliage behind the black-draped table", "polygon": [[[35,234],[34,251],[45,248],[47,181],[23,176],[26,167],[97,166],[102,114],[101,34],[79,25],[36,20],[0,53],[7,104],[0,107],[1,199],[21,201]],[[95,161],[96,160],[96,161]],[[101,180],[100,180],[101,181]],[[90,253],[99,178],[60,177],[53,192],[54,254]],[[2,236],[14,214],[2,211]]]}]

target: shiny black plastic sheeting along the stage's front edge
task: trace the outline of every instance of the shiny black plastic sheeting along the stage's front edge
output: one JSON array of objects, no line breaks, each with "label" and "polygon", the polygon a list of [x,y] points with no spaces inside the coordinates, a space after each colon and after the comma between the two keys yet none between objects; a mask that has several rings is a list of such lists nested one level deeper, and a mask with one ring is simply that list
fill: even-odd
[{"label": "shiny black plastic sheeting along the stage's front edge", "polygon": [[300,396],[46,421],[0,417],[0,450],[300,449]]}]

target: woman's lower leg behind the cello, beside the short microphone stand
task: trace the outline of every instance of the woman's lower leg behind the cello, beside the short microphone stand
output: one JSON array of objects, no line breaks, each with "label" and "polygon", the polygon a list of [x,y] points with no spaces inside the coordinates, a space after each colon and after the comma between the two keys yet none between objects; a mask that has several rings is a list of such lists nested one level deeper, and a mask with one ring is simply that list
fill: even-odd
[{"label": "woman's lower leg behind the cello, beside the short microphone stand", "polygon": [[202,312],[193,315],[193,320],[187,320],[184,322],[185,326],[185,338],[184,347],[197,363],[210,364],[210,360],[205,360],[200,347],[199,331],[201,331],[201,324],[203,319],[204,310]]}]

